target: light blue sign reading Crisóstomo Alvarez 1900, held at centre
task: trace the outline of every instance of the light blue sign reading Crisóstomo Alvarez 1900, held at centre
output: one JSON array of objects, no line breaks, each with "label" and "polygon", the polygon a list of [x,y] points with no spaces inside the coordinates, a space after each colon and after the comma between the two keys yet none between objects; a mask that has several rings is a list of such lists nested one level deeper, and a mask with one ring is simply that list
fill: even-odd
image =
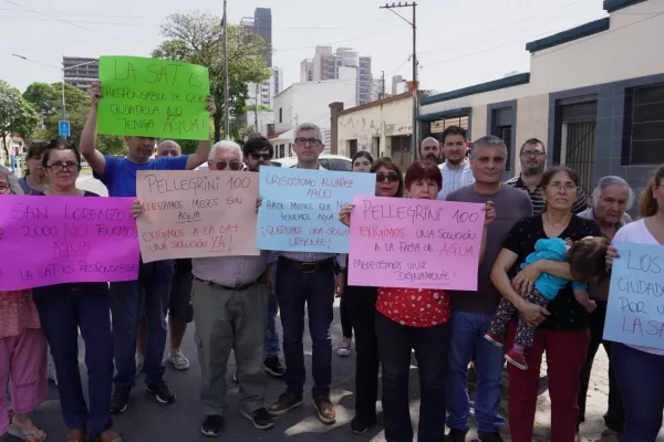
[{"label": "light blue sign reading Cris\u00f3stomo Alvarez 1900, held at centre", "polygon": [[261,167],[256,246],[347,253],[349,228],[339,221],[339,211],[375,189],[374,173]]}]

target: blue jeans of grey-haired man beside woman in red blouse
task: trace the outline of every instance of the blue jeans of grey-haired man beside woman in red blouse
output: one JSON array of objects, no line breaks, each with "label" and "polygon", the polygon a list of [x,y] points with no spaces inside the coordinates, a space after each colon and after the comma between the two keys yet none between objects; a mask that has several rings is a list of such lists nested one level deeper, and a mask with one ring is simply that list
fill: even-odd
[{"label": "blue jeans of grey-haired man beside woman in red blouse", "polygon": [[476,354],[477,392],[475,415],[478,431],[496,433],[502,427],[498,414],[502,349],[484,338],[491,316],[479,313],[452,313],[452,344],[449,346],[449,377],[447,382],[447,427],[468,431],[470,400],[468,398],[468,365]]}]

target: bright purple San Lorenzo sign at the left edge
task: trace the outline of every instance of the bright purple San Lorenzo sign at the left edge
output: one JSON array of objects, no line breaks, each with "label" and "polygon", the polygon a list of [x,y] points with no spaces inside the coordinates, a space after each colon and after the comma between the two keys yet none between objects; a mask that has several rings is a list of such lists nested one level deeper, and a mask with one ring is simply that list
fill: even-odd
[{"label": "bright purple San Lorenzo sign at the left edge", "polygon": [[136,280],[132,200],[0,197],[0,291]]}]

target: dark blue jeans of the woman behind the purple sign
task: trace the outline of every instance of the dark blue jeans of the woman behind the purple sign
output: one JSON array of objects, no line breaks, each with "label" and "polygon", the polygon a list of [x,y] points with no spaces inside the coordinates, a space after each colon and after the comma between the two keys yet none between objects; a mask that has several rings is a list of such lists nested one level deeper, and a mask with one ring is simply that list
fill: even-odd
[{"label": "dark blue jeans of the woman behind the purple sign", "polygon": [[[106,283],[63,284],[35,288],[34,303],[58,371],[62,415],[69,429],[89,427],[101,434],[113,424],[113,339]],[[79,371],[79,328],[85,343],[90,407]]]}]

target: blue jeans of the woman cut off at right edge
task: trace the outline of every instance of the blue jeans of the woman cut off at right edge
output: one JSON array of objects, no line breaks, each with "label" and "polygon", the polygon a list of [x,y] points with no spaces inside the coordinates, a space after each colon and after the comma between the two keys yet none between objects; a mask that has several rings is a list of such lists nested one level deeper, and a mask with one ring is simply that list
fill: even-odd
[{"label": "blue jeans of the woman cut off at right edge", "polygon": [[664,412],[664,356],[612,343],[611,364],[625,408],[623,441],[654,441]]}]

